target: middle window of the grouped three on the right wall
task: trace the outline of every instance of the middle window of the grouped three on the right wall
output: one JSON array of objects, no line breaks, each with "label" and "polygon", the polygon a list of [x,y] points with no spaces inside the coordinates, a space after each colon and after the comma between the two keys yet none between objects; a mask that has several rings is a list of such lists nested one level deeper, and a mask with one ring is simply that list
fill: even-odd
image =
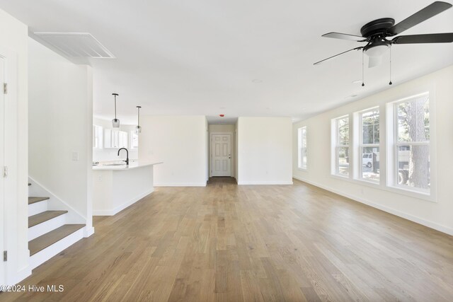
[{"label": "middle window of the grouped three on the right wall", "polygon": [[379,108],[360,113],[360,178],[379,182]]}]

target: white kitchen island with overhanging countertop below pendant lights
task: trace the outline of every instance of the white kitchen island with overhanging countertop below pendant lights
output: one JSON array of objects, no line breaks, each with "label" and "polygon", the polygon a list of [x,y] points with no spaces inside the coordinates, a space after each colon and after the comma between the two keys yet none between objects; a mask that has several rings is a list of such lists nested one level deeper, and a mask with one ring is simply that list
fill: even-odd
[{"label": "white kitchen island with overhanging countertop below pendant lights", "polygon": [[93,215],[112,216],[154,191],[153,167],[159,163],[93,167]]}]

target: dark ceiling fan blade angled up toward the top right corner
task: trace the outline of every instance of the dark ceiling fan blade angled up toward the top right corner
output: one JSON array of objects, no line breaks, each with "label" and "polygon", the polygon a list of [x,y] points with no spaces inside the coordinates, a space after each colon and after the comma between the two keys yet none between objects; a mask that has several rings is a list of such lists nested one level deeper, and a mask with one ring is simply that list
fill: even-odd
[{"label": "dark ceiling fan blade angled up toward the top right corner", "polygon": [[435,1],[423,8],[421,11],[414,13],[412,16],[392,26],[387,30],[387,33],[389,35],[398,35],[400,33],[403,33],[404,30],[407,30],[417,25],[418,23],[422,23],[423,21],[436,16],[437,13],[442,13],[442,11],[445,11],[450,7],[452,7],[452,4],[442,1]]}]

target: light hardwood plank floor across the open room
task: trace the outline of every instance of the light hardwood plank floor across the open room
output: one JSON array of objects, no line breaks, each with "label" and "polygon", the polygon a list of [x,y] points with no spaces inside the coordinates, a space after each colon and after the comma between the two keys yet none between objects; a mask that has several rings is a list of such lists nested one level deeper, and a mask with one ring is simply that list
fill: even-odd
[{"label": "light hardwood plank floor across the open room", "polygon": [[294,180],[159,187],[0,301],[453,301],[453,238]]}]

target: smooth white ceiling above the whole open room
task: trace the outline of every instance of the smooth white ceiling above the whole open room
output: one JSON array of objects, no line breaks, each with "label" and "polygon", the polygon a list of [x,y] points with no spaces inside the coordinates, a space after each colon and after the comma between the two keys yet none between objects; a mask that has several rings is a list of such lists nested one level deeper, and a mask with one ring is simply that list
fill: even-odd
[{"label": "smooth white ceiling above the whole open room", "polygon": [[[142,105],[143,115],[207,115],[219,123],[301,120],[389,88],[387,63],[365,70],[364,88],[352,83],[362,74],[358,51],[313,66],[360,46],[321,35],[360,35],[369,21],[398,23],[432,1],[0,0],[0,8],[30,33],[91,33],[115,55],[89,62],[96,116],[113,118],[116,92],[122,122],[133,123]],[[453,8],[403,35],[445,32],[453,32]],[[395,45],[392,62],[397,85],[453,64],[453,43]]]}]

